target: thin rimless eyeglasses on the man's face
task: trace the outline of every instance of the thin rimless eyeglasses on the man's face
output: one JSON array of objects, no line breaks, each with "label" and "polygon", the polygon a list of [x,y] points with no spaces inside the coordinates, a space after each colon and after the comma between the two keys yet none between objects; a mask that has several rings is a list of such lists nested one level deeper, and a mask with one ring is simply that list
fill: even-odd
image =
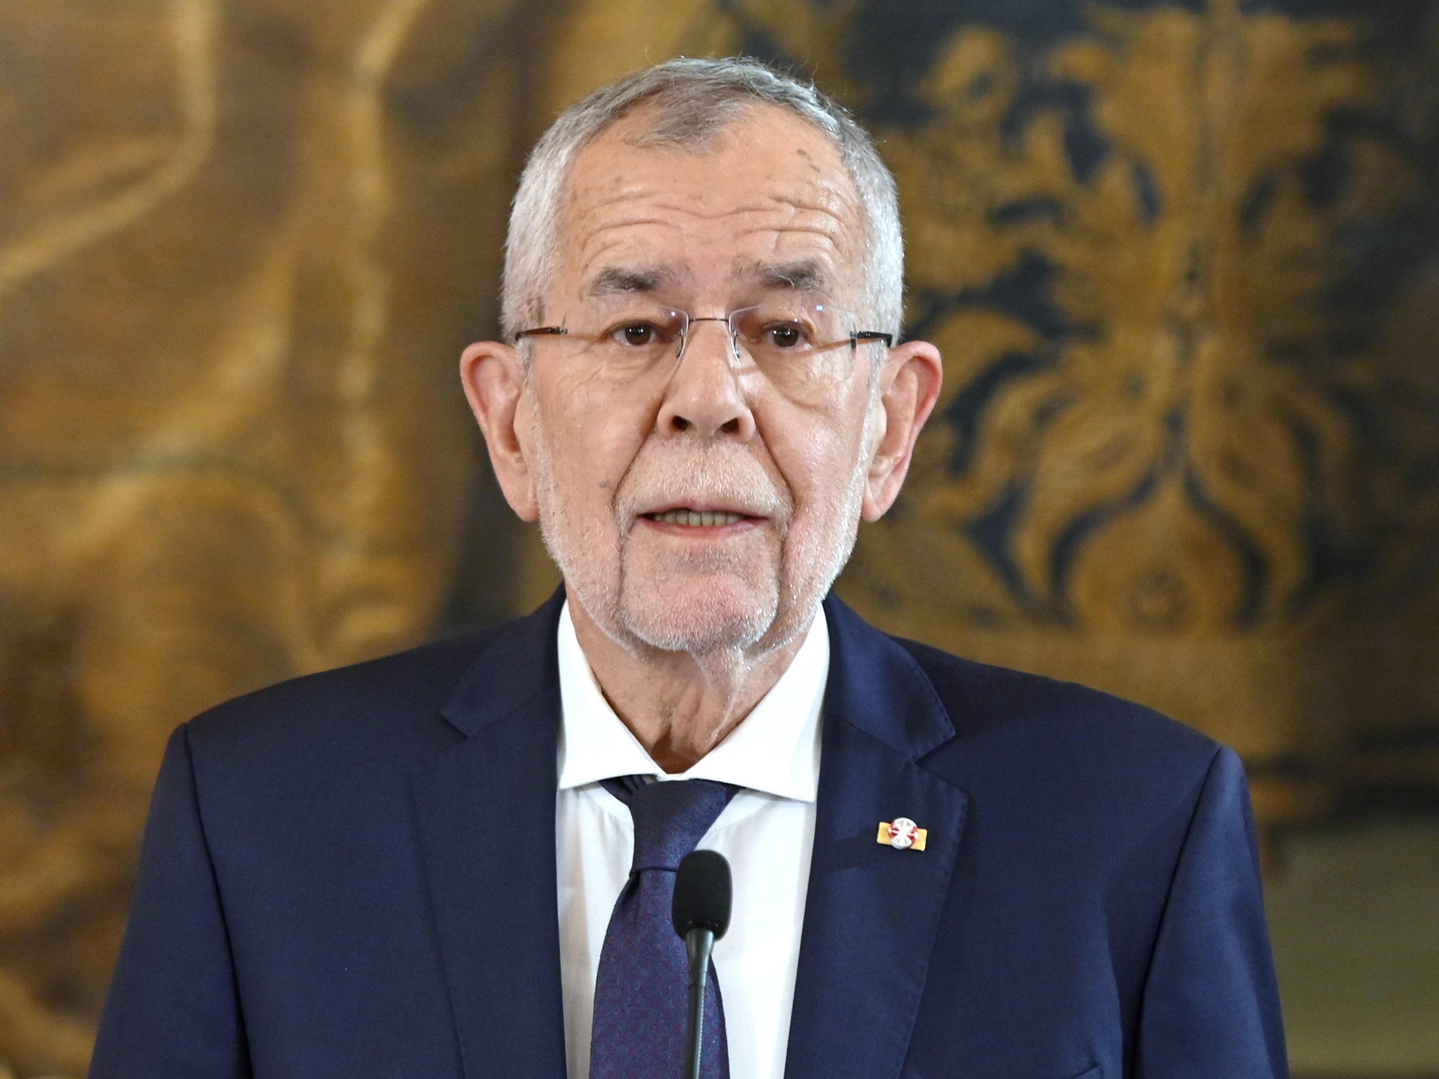
[{"label": "thin rimless eyeglasses on the man's face", "polygon": [[[535,327],[515,334],[564,337],[606,377],[632,380],[658,370],[668,358],[681,360],[696,322],[722,322],[730,352],[744,364],[748,357],[781,390],[827,386],[853,367],[862,341],[894,342],[878,329],[855,329],[855,315],[830,304],[781,298],[731,311],[727,317],[695,318],[685,311],[623,301],[596,304],[576,312],[574,325]],[[676,347],[678,345],[678,347]]]}]

